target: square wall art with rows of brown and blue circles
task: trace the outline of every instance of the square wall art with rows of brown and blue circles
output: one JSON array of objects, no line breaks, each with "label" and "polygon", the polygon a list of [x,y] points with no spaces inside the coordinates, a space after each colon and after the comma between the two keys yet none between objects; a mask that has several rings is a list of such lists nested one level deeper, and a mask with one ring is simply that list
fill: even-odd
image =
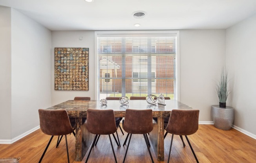
[{"label": "square wall art with rows of brown and blue circles", "polygon": [[55,90],[89,90],[89,48],[55,47],[54,57]]}]

